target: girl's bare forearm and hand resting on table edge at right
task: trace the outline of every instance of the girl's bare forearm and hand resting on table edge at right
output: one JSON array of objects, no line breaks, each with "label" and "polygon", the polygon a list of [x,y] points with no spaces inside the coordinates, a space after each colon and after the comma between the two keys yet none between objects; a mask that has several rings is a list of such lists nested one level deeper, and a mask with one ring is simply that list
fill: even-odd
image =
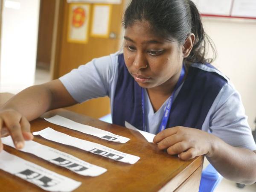
[{"label": "girl's bare forearm and hand resting on table edge at right", "polygon": [[185,127],[169,128],[157,134],[154,143],[160,149],[167,149],[168,154],[178,154],[182,160],[205,154],[212,166],[227,179],[244,184],[256,182],[255,152],[228,145],[207,132]]}]

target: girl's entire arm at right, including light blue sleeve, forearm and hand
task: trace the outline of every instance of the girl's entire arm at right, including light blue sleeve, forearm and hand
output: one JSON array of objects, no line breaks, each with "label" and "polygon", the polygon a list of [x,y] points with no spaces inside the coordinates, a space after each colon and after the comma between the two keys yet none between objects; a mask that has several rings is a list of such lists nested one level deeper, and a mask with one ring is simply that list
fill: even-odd
[{"label": "girl's entire arm at right, including light blue sleeve, forearm and hand", "polygon": [[[202,130],[185,127],[166,129],[154,138],[160,149],[189,160],[205,154],[227,179],[250,184],[256,181],[256,149],[241,98],[227,84],[216,97]],[[208,133],[209,128],[212,134]],[[250,149],[250,150],[248,150]]]}]

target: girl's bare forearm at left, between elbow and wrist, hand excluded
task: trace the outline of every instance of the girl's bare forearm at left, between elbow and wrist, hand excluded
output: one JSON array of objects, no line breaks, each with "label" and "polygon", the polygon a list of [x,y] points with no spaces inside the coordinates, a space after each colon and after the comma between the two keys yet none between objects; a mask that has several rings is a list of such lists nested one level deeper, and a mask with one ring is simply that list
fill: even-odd
[{"label": "girl's bare forearm at left, between elbow and wrist, hand excluded", "polygon": [[29,121],[41,116],[51,108],[52,93],[44,85],[28,87],[6,102],[0,110],[13,109]]}]

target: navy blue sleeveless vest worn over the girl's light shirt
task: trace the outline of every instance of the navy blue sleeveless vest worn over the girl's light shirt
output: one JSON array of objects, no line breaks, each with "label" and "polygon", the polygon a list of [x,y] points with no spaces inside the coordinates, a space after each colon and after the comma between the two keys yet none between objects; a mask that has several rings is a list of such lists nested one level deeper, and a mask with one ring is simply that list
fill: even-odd
[{"label": "navy blue sleeveless vest worn over the girl's light shirt", "polygon": [[[141,87],[128,72],[123,54],[118,56],[118,64],[113,123],[125,126],[127,121],[143,130]],[[207,66],[214,68],[210,64]],[[167,128],[184,126],[201,129],[215,97],[227,83],[227,80],[217,73],[197,67],[189,67],[188,70],[183,86],[172,104]]]}]

